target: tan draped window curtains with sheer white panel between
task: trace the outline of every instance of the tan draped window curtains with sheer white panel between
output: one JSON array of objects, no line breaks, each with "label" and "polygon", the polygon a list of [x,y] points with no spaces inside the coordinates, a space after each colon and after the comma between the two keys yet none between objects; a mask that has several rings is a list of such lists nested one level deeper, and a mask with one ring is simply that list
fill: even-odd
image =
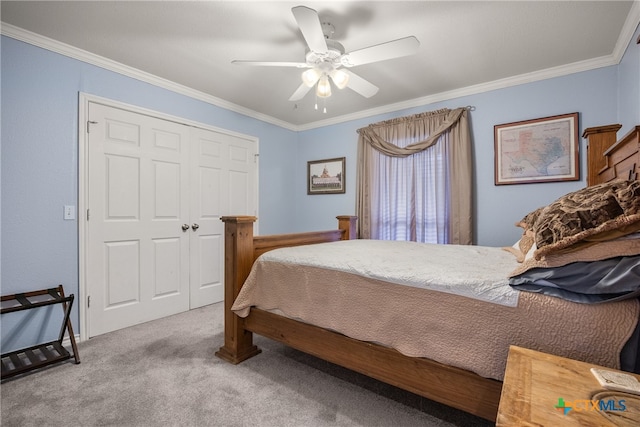
[{"label": "tan draped window curtains with sheer white panel between", "polygon": [[472,243],[466,108],[375,123],[358,134],[361,238]]}]

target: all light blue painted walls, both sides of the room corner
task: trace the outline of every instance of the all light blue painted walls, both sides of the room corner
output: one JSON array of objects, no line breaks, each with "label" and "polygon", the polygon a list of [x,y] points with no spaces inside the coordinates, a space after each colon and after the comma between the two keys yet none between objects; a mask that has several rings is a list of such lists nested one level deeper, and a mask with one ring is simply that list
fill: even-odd
[{"label": "all light blue painted walls, both sides of the room corner", "polygon": [[[257,137],[261,234],[330,229],[336,215],[354,213],[356,129],[388,118],[472,105],[476,242],[502,246],[519,237],[516,220],[583,187],[585,178],[494,186],[493,126],[571,112],[580,113],[580,132],[611,123],[623,124],[623,130],[640,124],[637,37],[638,31],[618,66],[298,133],[2,37],[2,294],[63,283],[68,293],[78,295],[78,224],[64,221],[62,209],[78,203],[79,92]],[[585,170],[582,139],[580,148]],[[346,193],[308,196],[306,162],[343,156]],[[73,322],[78,332],[77,306]]]}]

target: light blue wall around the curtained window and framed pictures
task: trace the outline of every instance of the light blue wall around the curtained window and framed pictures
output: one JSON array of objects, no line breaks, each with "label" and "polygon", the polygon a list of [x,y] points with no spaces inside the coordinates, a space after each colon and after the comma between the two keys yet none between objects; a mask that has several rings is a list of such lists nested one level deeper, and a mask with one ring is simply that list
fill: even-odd
[{"label": "light blue wall around the curtained window and framed pictures", "polygon": [[[296,188],[296,229],[329,229],[334,216],[355,213],[356,130],[382,120],[439,108],[471,105],[475,160],[475,242],[485,246],[512,245],[522,230],[514,223],[526,213],[586,185],[586,140],[580,138],[580,181],[526,185],[494,185],[493,126],[557,114],[578,112],[584,129],[620,123],[623,136],[640,125],[640,27],[621,63],[569,76],[547,79],[438,102],[362,120],[300,133]],[[304,188],[306,161],[347,158],[346,194],[308,196]]]}]

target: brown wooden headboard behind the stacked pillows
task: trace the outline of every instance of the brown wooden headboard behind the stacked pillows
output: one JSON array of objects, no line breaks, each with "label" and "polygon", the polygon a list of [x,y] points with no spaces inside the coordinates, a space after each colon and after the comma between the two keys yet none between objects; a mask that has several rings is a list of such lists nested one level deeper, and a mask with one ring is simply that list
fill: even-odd
[{"label": "brown wooden headboard behind the stacked pillows", "polygon": [[588,128],[582,134],[587,145],[587,185],[614,179],[638,179],[640,170],[640,126],[616,141],[622,125]]}]

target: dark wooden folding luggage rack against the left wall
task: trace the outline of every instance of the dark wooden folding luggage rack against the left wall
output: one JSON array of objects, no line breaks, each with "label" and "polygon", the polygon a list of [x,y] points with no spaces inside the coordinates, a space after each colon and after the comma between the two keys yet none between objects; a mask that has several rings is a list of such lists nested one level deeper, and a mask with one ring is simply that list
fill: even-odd
[{"label": "dark wooden folding luggage rack against the left wall", "polygon": [[[0,314],[30,310],[53,304],[62,304],[64,310],[64,318],[57,340],[2,354],[2,379],[71,359],[72,357],[75,359],[76,364],[80,363],[70,319],[73,299],[73,294],[65,297],[62,285],[56,288],[2,296]],[[73,354],[69,353],[62,345],[66,331],[69,332]]]}]

